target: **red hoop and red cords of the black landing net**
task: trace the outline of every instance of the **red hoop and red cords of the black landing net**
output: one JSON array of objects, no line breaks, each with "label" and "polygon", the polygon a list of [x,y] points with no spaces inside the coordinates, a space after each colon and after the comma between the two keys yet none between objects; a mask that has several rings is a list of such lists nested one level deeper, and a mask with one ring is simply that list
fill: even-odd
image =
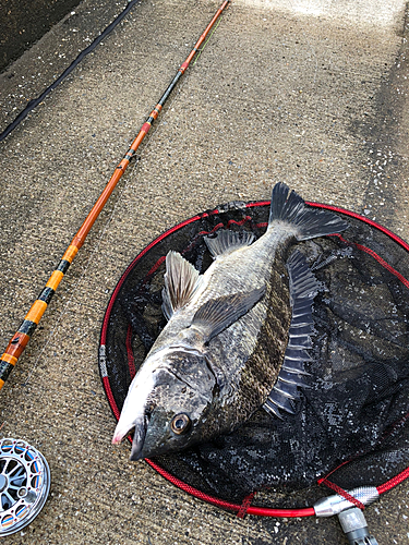
[{"label": "red hoop and red cords of the black landing net", "polygon": [[[167,237],[169,237],[172,233],[176,233],[177,231],[183,229],[184,227],[194,223],[196,221],[200,221],[206,217],[212,217],[216,216],[218,214],[226,213],[229,207],[234,207],[236,203],[231,203],[228,205],[224,205],[220,207],[217,207],[213,210],[207,210],[202,214],[197,214],[180,223],[177,226],[168,229],[164,233],[161,233],[159,237],[157,237],[154,241],[152,241],[133,261],[132,263],[127,267],[125,271],[122,274],[120,280],[117,283],[117,287],[115,288],[112,295],[110,298],[110,301],[108,303],[104,320],[103,320],[103,327],[101,327],[101,335],[100,335],[100,343],[99,343],[99,372],[100,372],[100,377],[103,382],[103,386],[109,402],[109,405],[112,410],[112,413],[117,421],[119,420],[120,416],[120,410],[117,405],[117,402],[115,400],[115,396],[112,392],[111,384],[108,377],[108,371],[107,371],[107,356],[106,356],[106,341],[107,341],[107,332],[109,328],[109,319],[111,316],[112,307],[115,305],[116,299],[118,296],[118,293],[120,292],[123,283],[125,282],[128,276],[131,274],[131,271],[134,269],[134,267],[137,266],[139,262],[152,249],[154,249],[159,242],[164,241]],[[246,204],[240,203],[242,205],[242,208],[245,209],[251,209],[254,207],[266,207],[269,206],[270,202],[269,201],[257,201],[257,202],[250,202]],[[306,205],[314,207],[314,208],[321,208],[324,210],[332,210],[337,214],[344,215],[346,217],[353,218],[356,220],[362,221],[363,223],[370,226],[371,228],[374,228],[385,235],[387,235],[389,239],[392,239],[395,243],[397,243],[400,247],[402,247],[406,252],[409,253],[409,244],[405,242],[400,237],[395,234],[393,231],[389,229],[381,226],[374,220],[371,220],[364,216],[361,216],[357,213],[353,213],[351,210],[338,207],[338,206],[333,206],[333,205],[326,205],[322,203],[315,203],[315,202],[306,202]],[[240,222],[236,220],[231,220],[232,223],[240,225]],[[244,222],[244,220],[243,220]],[[218,226],[216,226],[218,227]],[[228,226],[229,227],[229,223]],[[216,229],[216,228],[215,228]],[[341,235],[338,235],[340,239]],[[392,267],[385,259],[383,259],[378,254],[376,254],[374,251],[371,249],[362,245],[362,244],[357,244],[353,243],[359,250],[365,252],[366,254],[371,255],[373,258],[375,258],[382,267],[384,267],[386,270],[392,272],[393,275],[396,276],[408,289],[409,289],[409,280],[405,278],[399,271],[397,271],[394,267]],[[165,256],[163,259],[159,259],[156,263],[156,268],[158,268],[161,263],[165,261]],[[149,272],[153,272],[151,270]],[[132,354],[130,354],[130,359],[132,360]],[[130,364],[131,365],[131,364]],[[409,417],[409,414],[404,416],[404,419]],[[129,440],[132,441],[132,436],[130,435]],[[228,511],[234,512],[238,517],[244,517],[244,514],[254,514],[254,516],[261,516],[261,517],[286,517],[286,518],[296,518],[296,517],[311,517],[315,514],[314,508],[301,508],[301,509],[277,509],[277,508],[270,508],[270,507],[258,507],[258,506],[251,506],[251,502],[253,500],[253,497],[255,496],[255,493],[250,494],[246,498],[243,499],[241,504],[237,502],[231,502],[231,501],[226,501],[224,499],[217,498],[213,495],[206,494],[199,488],[195,488],[194,486],[191,486],[190,484],[183,482],[176,475],[171,474],[169,471],[167,471],[165,468],[163,468],[159,463],[155,462],[154,460],[145,459],[146,463],[151,468],[153,468],[158,474],[160,474],[164,479],[166,479],[168,482],[180,488],[181,491],[190,494],[191,496],[194,496],[203,501],[206,501],[208,504],[212,504],[216,507],[219,507],[221,509],[226,509]],[[347,499],[354,500],[354,498],[351,498],[350,495],[348,494],[347,491],[342,489],[332,481],[329,481],[329,476],[335,473],[340,467],[348,464],[352,460],[347,460],[342,462],[338,468],[335,468],[332,470],[327,475],[323,476],[317,481],[317,484],[324,484],[330,489],[335,491],[337,494],[340,494]],[[406,479],[409,477],[409,465],[392,479],[387,480],[386,482],[382,483],[381,485],[376,486],[376,489],[378,494],[384,494],[385,492],[394,488],[401,482],[404,482]],[[356,500],[357,501],[357,500]],[[353,501],[353,502],[356,502]],[[357,501],[357,504],[359,504]],[[363,508],[362,505],[359,505],[359,507]]]}]

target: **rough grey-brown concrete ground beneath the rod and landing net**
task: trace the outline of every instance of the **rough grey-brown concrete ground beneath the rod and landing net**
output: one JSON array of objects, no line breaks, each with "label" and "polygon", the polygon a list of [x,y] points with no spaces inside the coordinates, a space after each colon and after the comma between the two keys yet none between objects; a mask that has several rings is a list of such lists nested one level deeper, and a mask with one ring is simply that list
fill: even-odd
[{"label": "rough grey-brown concrete ground beneath the rod and landing net", "polygon": [[[10,65],[0,126],[122,8],[83,1]],[[1,144],[4,347],[217,8],[143,0]],[[219,203],[268,198],[277,181],[409,240],[408,36],[402,0],[231,3],[0,393],[1,433],[41,450],[52,474],[41,513],[3,543],[346,543],[337,520],[240,520],[129,462],[129,445],[111,445],[97,348],[116,282],[149,241]],[[408,494],[404,483],[368,509],[380,544],[408,543]]]}]

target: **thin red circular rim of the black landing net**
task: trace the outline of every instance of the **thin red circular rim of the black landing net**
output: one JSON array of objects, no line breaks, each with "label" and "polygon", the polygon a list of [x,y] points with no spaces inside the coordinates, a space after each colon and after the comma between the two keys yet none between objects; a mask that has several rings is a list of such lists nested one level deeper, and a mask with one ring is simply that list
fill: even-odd
[{"label": "thin red circular rim of the black landing net", "polygon": [[[256,206],[268,206],[269,204],[270,204],[269,201],[258,201],[258,202],[254,202],[254,203],[248,203],[245,205],[245,208],[253,208],[253,207],[256,207]],[[366,218],[364,216],[361,216],[361,215],[359,215],[357,213],[353,213],[351,210],[347,210],[345,208],[340,208],[338,206],[326,205],[326,204],[314,203],[314,202],[306,202],[306,204],[309,206],[312,206],[312,207],[315,207],[315,208],[322,208],[322,209],[332,210],[332,211],[335,211],[335,213],[338,213],[338,214],[342,214],[345,216],[351,217],[353,219],[358,219],[358,220],[360,220],[360,221],[362,221],[362,222],[364,222],[366,225],[370,225],[371,227],[377,229],[378,231],[382,231],[384,234],[386,234],[392,240],[394,240],[397,244],[399,244],[401,247],[404,247],[407,252],[409,252],[409,244],[407,242],[405,242],[400,237],[398,237],[397,234],[395,234],[394,232],[392,232],[389,229],[381,226],[380,223],[377,223],[374,220],[371,220],[371,219],[369,219],[369,218]],[[106,344],[108,323],[109,323],[109,318],[110,318],[110,314],[111,314],[111,311],[112,311],[112,306],[113,306],[116,298],[117,298],[117,295],[119,293],[119,290],[121,289],[122,284],[127,280],[128,275],[137,265],[139,261],[149,250],[152,250],[156,244],[158,244],[160,241],[163,241],[169,234],[178,231],[179,229],[182,229],[183,227],[185,227],[185,226],[188,226],[190,223],[199,221],[200,219],[202,219],[204,217],[208,217],[208,216],[216,215],[216,214],[219,214],[219,210],[217,208],[215,210],[212,210],[212,211],[208,211],[208,213],[204,213],[204,214],[200,214],[200,215],[193,216],[192,218],[189,218],[189,219],[182,221],[181,223],[178,223],[177,226],[168,229],[163,234],[160,234],[159,237],[157,237],[154,241],[152,241],[133,259],[133,262],[128,266],[128,268],[123,272],[122,277],[118,281],[117,287],[113,290],[111,299],[110,299],[110,301],[108,303],[108,306],[107,306],[107,310],[106,310],[106,313],[105,313],[105,316],[104,316],[99,347],[105,347],[105,344]],[[382,263],[383,266],[385,266],[392,272],[394,272],[409,288],[409,281],[406,278],[404,278],[398,271],[396,271],[392,267],[389,267],[389,265],[386,262],[384,262],[380,256],[374,255],[374,252],[372,252],[370,249],[365,249],[364,246],[361,246],[361,250],[366,251],[368,253],[370,253],[371,255],[373,255],[376,259],[378,259]],[[160,263],[158,263],[157,266]],[[116,416],[116,419],[118,421],[119,416],[120,416],[120,411],[119,411],[119,409],[117,407],[117,403],[115,401],[115,398],[113,398],[113,395],[112,395],[112,390],[111,390],[111,387],[110,387],[110,383],[109,383],[109,378],[106,375],[101,375],[101,379],[103,379],[103,385],[104,385],[104,389],[105,389],[106,396],[108,398],[109,405],[110,405],[110,408],[112,410],[112,413],[115,414],[115,416]],[[129,438],[130,438],[130,440],[132,440],[131,437],[129,437]],[[157,473],[159,473],[163,477],[165,477],[167,481],[169,481],[171,484],[173,484],[175,486],[177,486],[181,491],[183,491],[183,492],[185,492],[185,493],[190,494],[191,496],[194,496],[194,497],[196,497],[199,499],[202,499],[203,501],[212,504],[212,505],[214,505],[216,507],[219,507],[219,508],[222,508],[222,509],[227,509],[229,511],[233,511],[233,512],[237,513],[238,517],[243,517],[245,513],[248,513],[248,514],[255,514],[255,516],[260,516],[260,517],[288,517],[288,518],[312,517],[312,516],[315,514],[315,511],[314,511],[313,507],[303,508],[303,509],[275,509],[275,508],[267,508],[267,507],[252,507],[251,506],[251,500],[252,500],[252,498],[253,498],[254,495],[250,496],[249,498],[245,498],[241,505],[239,505],[239,504],[232,504],[232,502],[229,502],[229,501],[225,501],[222,499],[216,498],[216,497],[210,496],[208,494],[204,494],[202,491],[199,491],[197,488],[194,488],[193,486],[184,483],[180,479],[176,477],[175,475],[172,475],[171,473],[169,473],[168,471],[166,471],[164,468],[161,468],[159,464],[157,464],[153,460],[145,459],[145,461]],[[406,470],[404,470],[402,472],[400,472],[398,475],[396,475],[393,479],[390,479],[389,481],[387,481],[386,483],[383,483],[382,485],[377,486],[376,489],[377,489],[378,494],[381,495],[381,494],[383,494],[383,493],[385,493],[385,492],[394,488],[395,486],[397,486],[398,484],[400,484],[402,481],[405,481],[408,477],[409,477],[409,467]],[[327,481],[327,479],[325,479],[325,477],[322,479],[320,482],[322,482],[323,484],[326,484],[329,487],[332,487],[332,483],[329,481]]]}]

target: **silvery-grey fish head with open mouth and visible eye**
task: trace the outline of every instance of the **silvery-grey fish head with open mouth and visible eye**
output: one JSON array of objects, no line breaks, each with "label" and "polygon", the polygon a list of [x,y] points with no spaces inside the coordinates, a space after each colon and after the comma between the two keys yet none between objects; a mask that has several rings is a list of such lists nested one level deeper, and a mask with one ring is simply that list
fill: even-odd
[{"label": "silvery-grey fish head with open mouth and visible eye", "polygon": [[131,460],[135,461],[202,441],[216,391],[216,377],[202,352],[170,348],[160,354],[160,362],[144,365],[135,376],[113,443],[134,427]]}]

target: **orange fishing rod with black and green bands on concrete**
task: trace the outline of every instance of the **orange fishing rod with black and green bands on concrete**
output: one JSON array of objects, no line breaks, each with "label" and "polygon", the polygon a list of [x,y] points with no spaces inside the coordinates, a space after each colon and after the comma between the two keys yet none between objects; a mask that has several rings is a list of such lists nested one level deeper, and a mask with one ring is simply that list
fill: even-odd
[{"label": "orange fishing rod with black and green bands on concrete", "polygon": [[104,206],[106,205],[106,203],[107,203],[108,198],[110,197],[112,191],[115,190],[117,183],[122,178],[122,175],[123,175],[124,171],[127,170],[131,160],[135,157],[136,149],[140,147],[140,145],[142,144],[146,134],[148,133],[151,126],[153,125],[154,121],[159,116],[165,102],[169,98],[169,96],[170,96],[171,92],[173,90],[173,88],[176,87],[178,81],[181,78],[181,76],[184,74],[184,72],[189,68],[191,61],[193,60],[193,58],[195,57],[200,47],[202,46],[202,44],[206,39],[208,33],[210,32],[210,29],[213,28],[213,26],[215,25],[215,23],[220,17],[221,13],[225,11],[225,9],[228,7],[229,3],[230,3],[230,0],[225,0],[221,3],[220,8],[216,11],[212,21],[206,26],[204,33],[201,35],[201,37],[199,38],[199,40],[194,45],[192,51],[189,53],[187,60],[180,65],[172,82],[170,83],[168,88],[163,94],[158,104],[152,110],[152,112],[151,112],[149,117],[146,119],[145,123],[140,129],[140,132],[139,132],[136,138],[132,142],[131,147],[128,149],[128,152],[123,156],[123,159],[116,168],[113,174],[109,179],[103,193],[99,195],[95,205],[91,209],[88,216],[85,218],[85,221],[81,226],[81,228],[77,231],[77,233],[75,234],[75,237],[72,239],[71,244],[65,250],[60,263],[58,264],[57,268],[51,274],[50,278],[48,279],[48,282],[46,283],[46,286],[43,289],[41,293],[39,294],[38,299],[33,303],[33,305],[29,308],[28,313],[26,314],[22,325],[19,327],[17,331],[11,338],[3,355],[0,359],[0,389],[4,386],[4,383],[9,378],[11,371],[14,368],[14,365],[17,363],[19,358],[24,352],[25,347],[27,346],[32,335],[34,334],[34,331],[39,323],[39,320],[41,319],[44,313],[46,312],[46,308],[47,308],[49,302],[51,301],[52,295],[56,293],[56,290],[57,290],[59,283],[61,282],[62,277],[67,272],[68,268],[70,267],[71,263],[73,262],[79,250],[84,244],[84,241],[85,241],[87,234],[89,233],[97,217],[101,213]]}]

